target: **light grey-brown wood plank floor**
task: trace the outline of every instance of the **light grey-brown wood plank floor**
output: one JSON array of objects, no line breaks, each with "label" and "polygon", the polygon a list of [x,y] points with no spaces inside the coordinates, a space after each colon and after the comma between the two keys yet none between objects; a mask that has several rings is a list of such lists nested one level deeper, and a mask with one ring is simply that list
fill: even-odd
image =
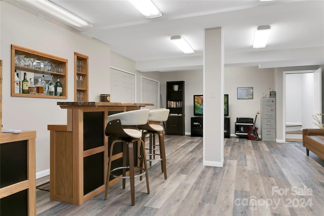
[{"label": "light grey-brown wood plank floor", "polygon": [[[301,143],[225,139],[224,167],[203,165],[203,138],[165,136],[168,179],[160,163],[145,181],[121,182],[83,205],[50,201],[36,190],[37,215],[323,215],[324,161]],[[36,181],[47,182],[49,177]]]}]

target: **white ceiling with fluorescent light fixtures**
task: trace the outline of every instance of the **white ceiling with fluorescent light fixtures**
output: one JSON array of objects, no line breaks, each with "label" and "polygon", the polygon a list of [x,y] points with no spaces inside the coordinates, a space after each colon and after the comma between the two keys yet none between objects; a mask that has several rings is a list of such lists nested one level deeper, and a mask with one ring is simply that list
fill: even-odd
[{"label": "white ceiling with fluorescent light fixtures", "polygon": [[[324,65],[323,0],[152,0],[163,14],[155,19],[145,19],[123,0],[52,2],[92,23],[77,30],[136,61],[139,71],[203,68],[204,29],[213,27],[223,29],[226,67]],[[272,32],[266,48],[253,49],[260,25],[271,25]],[[181,53],[170,41],[175,35],[183,36],[195,53]]]}]

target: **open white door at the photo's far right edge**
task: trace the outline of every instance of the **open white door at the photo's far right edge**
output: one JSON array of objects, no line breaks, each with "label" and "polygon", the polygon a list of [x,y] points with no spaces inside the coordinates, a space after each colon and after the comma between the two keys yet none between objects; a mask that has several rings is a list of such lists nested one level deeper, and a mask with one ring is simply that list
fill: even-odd
[{"label": "open white door at the photo's far right edge", "polygon": [[[321,87],[321,68],[314,71],[314,104],[313,104],[313,115],[322,112],[322,87]],[[321,122],[321,116],[317,115],[317,118]]]}]

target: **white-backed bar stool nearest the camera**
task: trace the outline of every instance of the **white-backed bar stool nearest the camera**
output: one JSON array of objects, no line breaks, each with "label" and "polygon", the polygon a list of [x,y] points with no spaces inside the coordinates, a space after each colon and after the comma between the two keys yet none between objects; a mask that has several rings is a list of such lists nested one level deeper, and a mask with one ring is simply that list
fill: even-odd
[{"label": "white-backed bar stool nearest the camera", "polygon": [[[147,193],[150,193],[149,184],[148,184],[146,155],[145,155],[145,143],[143,142],[143,140],[141,140],[142,133],[139,131],[137,127],[137,125],[147,123],[148,114],[149,114],[149,109],[140,109],[140,110],[121,112],[121,113],[109,115],[107,117],[107,126],[105,129],[105,134],[108,137],[117,138],[117,140],[114,140],[111,143],[111,147],[109,151],[109,163],[108,163],[106,190],[105,190],[105,200],[107,199],[110,175],[115,178],[123,179],[123,189],[125,189],[126,179],[130,179],[132,205],[135,205],[135,185],[134,185],[135,177],[142,178],[142,176],[145,175]],[[111,169],[113,147],[117,143],[123,144],[123,165]],[[139,166],[134,165],[134,143],[137,144],[137,147],[139,148],[140,151]],[[127,165],[127,159],[129,160],[129,165]],[[142,164],[144,164],[144,168]],[[115,172],[120,169],[123,170],[122,176],[117,175]],[[128,176],[126,176],[126,169],[129,169]],[[135,169],[139,169],[138,175],[135,175]]]}]

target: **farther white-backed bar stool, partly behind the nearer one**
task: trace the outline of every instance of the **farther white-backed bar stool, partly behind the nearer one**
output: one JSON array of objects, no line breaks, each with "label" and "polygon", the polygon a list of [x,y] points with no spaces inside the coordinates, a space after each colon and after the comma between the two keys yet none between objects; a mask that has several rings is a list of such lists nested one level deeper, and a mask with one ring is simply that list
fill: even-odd
[{"label": "farther white-backed bar stool, partly behind the nearer one", "polygon": [[[164,172],[164,178],[167,179],[167,164],[166,164],[166,150],[164,145],[164,127],[161,125],[161,122],[168,120],[169,109],[153,109],[150,110],[148,115],[148,122],[145,125],[140,125],[139,129],[142,129],[142,140],[145,143],[147,135],[149,135],[149,159],[150,165],[151,161],[161,161],[161,170]],[[158,135],[159,143],[155,144],[155,135]],[[159,154],[155,151],[159,150]],[[155,158],[159,156],[159,158]]]}]

